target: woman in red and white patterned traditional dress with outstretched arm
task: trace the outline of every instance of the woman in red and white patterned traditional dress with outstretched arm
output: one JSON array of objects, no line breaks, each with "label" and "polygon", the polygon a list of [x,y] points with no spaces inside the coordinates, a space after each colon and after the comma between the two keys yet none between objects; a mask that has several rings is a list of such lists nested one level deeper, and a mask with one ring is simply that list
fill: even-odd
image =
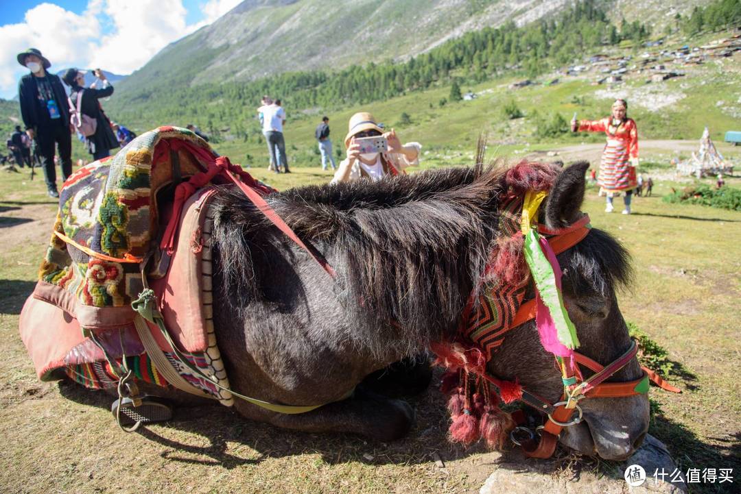
[{"label": "woman in red and white patterned traditional dress with outstretched arm", "polygon": [[622,214],[631,214],[631,196],[638,186],[638,129],[636,122],[626,116],[628,104],[618,99],[612,104],[612,116],[597,121],[571,122],[573,132],[605,132],[607,144],[599,165],[599,193],[607,195],[605,212],[613,211],[612,198],[625,193]]}]

